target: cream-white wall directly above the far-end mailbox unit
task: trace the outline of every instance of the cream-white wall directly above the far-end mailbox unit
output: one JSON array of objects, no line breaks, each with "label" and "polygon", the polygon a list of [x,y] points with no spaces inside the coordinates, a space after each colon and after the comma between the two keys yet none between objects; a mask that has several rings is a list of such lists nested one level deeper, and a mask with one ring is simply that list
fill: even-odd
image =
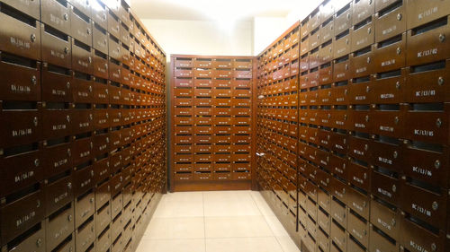
[{"label": "cream-white wall directly above the far-end mailbox unit", "polygon": [[[166,55],[253,55],[253,23],[143,19]],[[167,58],[169,59],[169,57]]]}]

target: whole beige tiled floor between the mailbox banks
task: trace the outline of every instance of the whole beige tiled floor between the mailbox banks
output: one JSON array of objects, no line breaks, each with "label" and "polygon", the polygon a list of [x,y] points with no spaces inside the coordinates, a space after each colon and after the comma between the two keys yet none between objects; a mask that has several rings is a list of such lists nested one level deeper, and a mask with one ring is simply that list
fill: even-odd
[{"label": "whole beige tiled floor between the mailbox banks", "polygon": [[138,252],[299,252],[258,192],[167,194]]}]

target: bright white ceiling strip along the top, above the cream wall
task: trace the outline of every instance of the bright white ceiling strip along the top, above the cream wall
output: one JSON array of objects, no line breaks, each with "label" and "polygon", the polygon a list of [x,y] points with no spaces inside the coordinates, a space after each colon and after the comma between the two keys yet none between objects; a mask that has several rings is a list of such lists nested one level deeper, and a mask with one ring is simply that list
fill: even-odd
[{"label": "bright white ceiling strip along the top, above the cream wall", "polygon": [[131,0],[131,8],[140,19],[247,21],[285,17],[302,2],[311,0]]}]

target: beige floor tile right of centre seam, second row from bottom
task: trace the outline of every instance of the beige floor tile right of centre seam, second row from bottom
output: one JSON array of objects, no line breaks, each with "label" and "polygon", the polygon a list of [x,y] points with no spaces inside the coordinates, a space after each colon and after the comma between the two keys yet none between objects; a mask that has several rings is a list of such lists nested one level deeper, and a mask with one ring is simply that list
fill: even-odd
[{"label": "beige floor tile right of centre seam, second row from bottom", "polygon": [[263,216],[205,217],[206,238],[269,237]]}]

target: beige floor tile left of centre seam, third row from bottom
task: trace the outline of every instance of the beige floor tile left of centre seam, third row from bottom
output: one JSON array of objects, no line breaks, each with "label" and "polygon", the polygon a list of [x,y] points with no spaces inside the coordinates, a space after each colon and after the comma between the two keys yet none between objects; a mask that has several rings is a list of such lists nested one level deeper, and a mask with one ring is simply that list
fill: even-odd
[{"label": "beige floor tile left of centre seam, third row from bottom", "polygon": [[161,201],[157,205],[157,211],[154,217],[173,218],[173,217],[202,217],[203,203],[175,200]]}]

